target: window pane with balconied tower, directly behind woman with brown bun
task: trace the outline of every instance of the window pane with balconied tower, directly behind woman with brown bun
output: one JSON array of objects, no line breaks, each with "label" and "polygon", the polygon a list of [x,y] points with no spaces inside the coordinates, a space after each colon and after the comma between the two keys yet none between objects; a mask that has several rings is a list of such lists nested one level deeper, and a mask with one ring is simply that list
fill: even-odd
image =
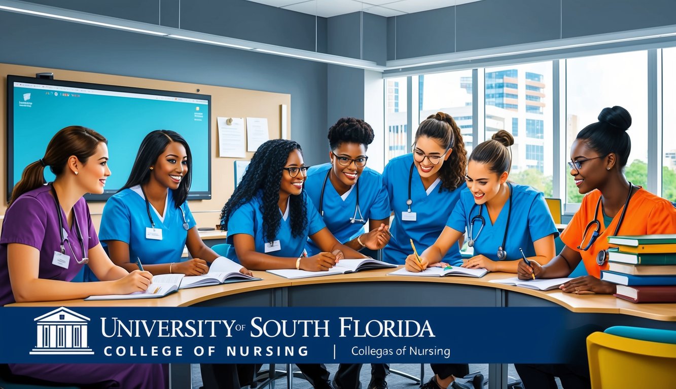
[{"label": "window pane with balconied tower, directly behind woman with brown bun", "polygon": [[[498,130],[514,136],[510,180],[552,196],[552,62],[485,70],[485,138]],[[489,97],[504,93],[505,99]],[[538,100],[534,101],[533,98]],[[509,99],[508,101],[504,101]],[[526,131],[518,125],[526,124]]]}]

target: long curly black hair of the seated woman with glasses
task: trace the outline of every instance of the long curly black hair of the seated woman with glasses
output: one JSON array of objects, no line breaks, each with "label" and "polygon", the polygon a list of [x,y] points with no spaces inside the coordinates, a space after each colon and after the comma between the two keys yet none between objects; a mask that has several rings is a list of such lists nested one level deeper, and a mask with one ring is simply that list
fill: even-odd
[{"label": "long curly black hair of the seated woman with glasses", "polygon": [[[220,212],[221,230],[226,230],[233,211],[251,201],[258,192],[261,192],[260,211],[263,214],[263,238],[265,242],[274,240],[279,232],[282,218],[279,212],[279,187],[284,172],[282,167],[286,165],[289,153],[294,150],[303,153],[297,142],[286,139],[268,140],[258,147],[242,181]],[[304,192],[300,196],[289,197],[291,235],[294,237],[304,234],[308,225],[308,210],[303,201]]]}]

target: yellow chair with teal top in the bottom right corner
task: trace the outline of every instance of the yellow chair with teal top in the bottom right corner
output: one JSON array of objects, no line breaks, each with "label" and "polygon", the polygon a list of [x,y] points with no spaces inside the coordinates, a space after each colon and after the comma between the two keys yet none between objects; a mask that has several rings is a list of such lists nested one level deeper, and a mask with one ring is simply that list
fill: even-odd
[{"label": "yellow chair with teal top in the bottom right corner", "polygon": [[676,331],[610,327],[587,336],[587,357],[592,389],[676,388]]}]

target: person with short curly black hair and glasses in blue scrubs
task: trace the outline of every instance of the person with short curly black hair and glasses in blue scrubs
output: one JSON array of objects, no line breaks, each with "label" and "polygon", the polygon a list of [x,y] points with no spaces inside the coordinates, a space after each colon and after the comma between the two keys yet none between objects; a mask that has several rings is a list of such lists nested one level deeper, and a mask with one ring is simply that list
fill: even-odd
[{"label": "person with short curly black hair and glasses in blue scrubs", "polygon": [[[364,120],[341,118],[329,128],[329,160],[308,169],[305,190],[331,234],[347,247],[379,250],[389,242],[389,198],[380,173],[366,167],[366,150],[374,138]],[[364,230],[368,222],[368,230]],[[320,249],[312,239],[309,255]],[[335,389],[361,388],[361,364],[341,363],[333,378]],[[368,388],[382,388],[387,365],[371,364]]]}]

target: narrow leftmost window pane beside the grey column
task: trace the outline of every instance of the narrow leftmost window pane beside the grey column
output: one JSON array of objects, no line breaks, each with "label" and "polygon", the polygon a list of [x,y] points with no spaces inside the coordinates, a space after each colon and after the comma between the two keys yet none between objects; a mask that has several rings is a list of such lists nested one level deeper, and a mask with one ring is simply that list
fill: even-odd
[{"label": "narrow leftmost window pane beside the grey column", "polygon": [[406,77],[385,80],[385,162],[397,155],[408,153],[406,148],[408,90],[406,85]]}]

